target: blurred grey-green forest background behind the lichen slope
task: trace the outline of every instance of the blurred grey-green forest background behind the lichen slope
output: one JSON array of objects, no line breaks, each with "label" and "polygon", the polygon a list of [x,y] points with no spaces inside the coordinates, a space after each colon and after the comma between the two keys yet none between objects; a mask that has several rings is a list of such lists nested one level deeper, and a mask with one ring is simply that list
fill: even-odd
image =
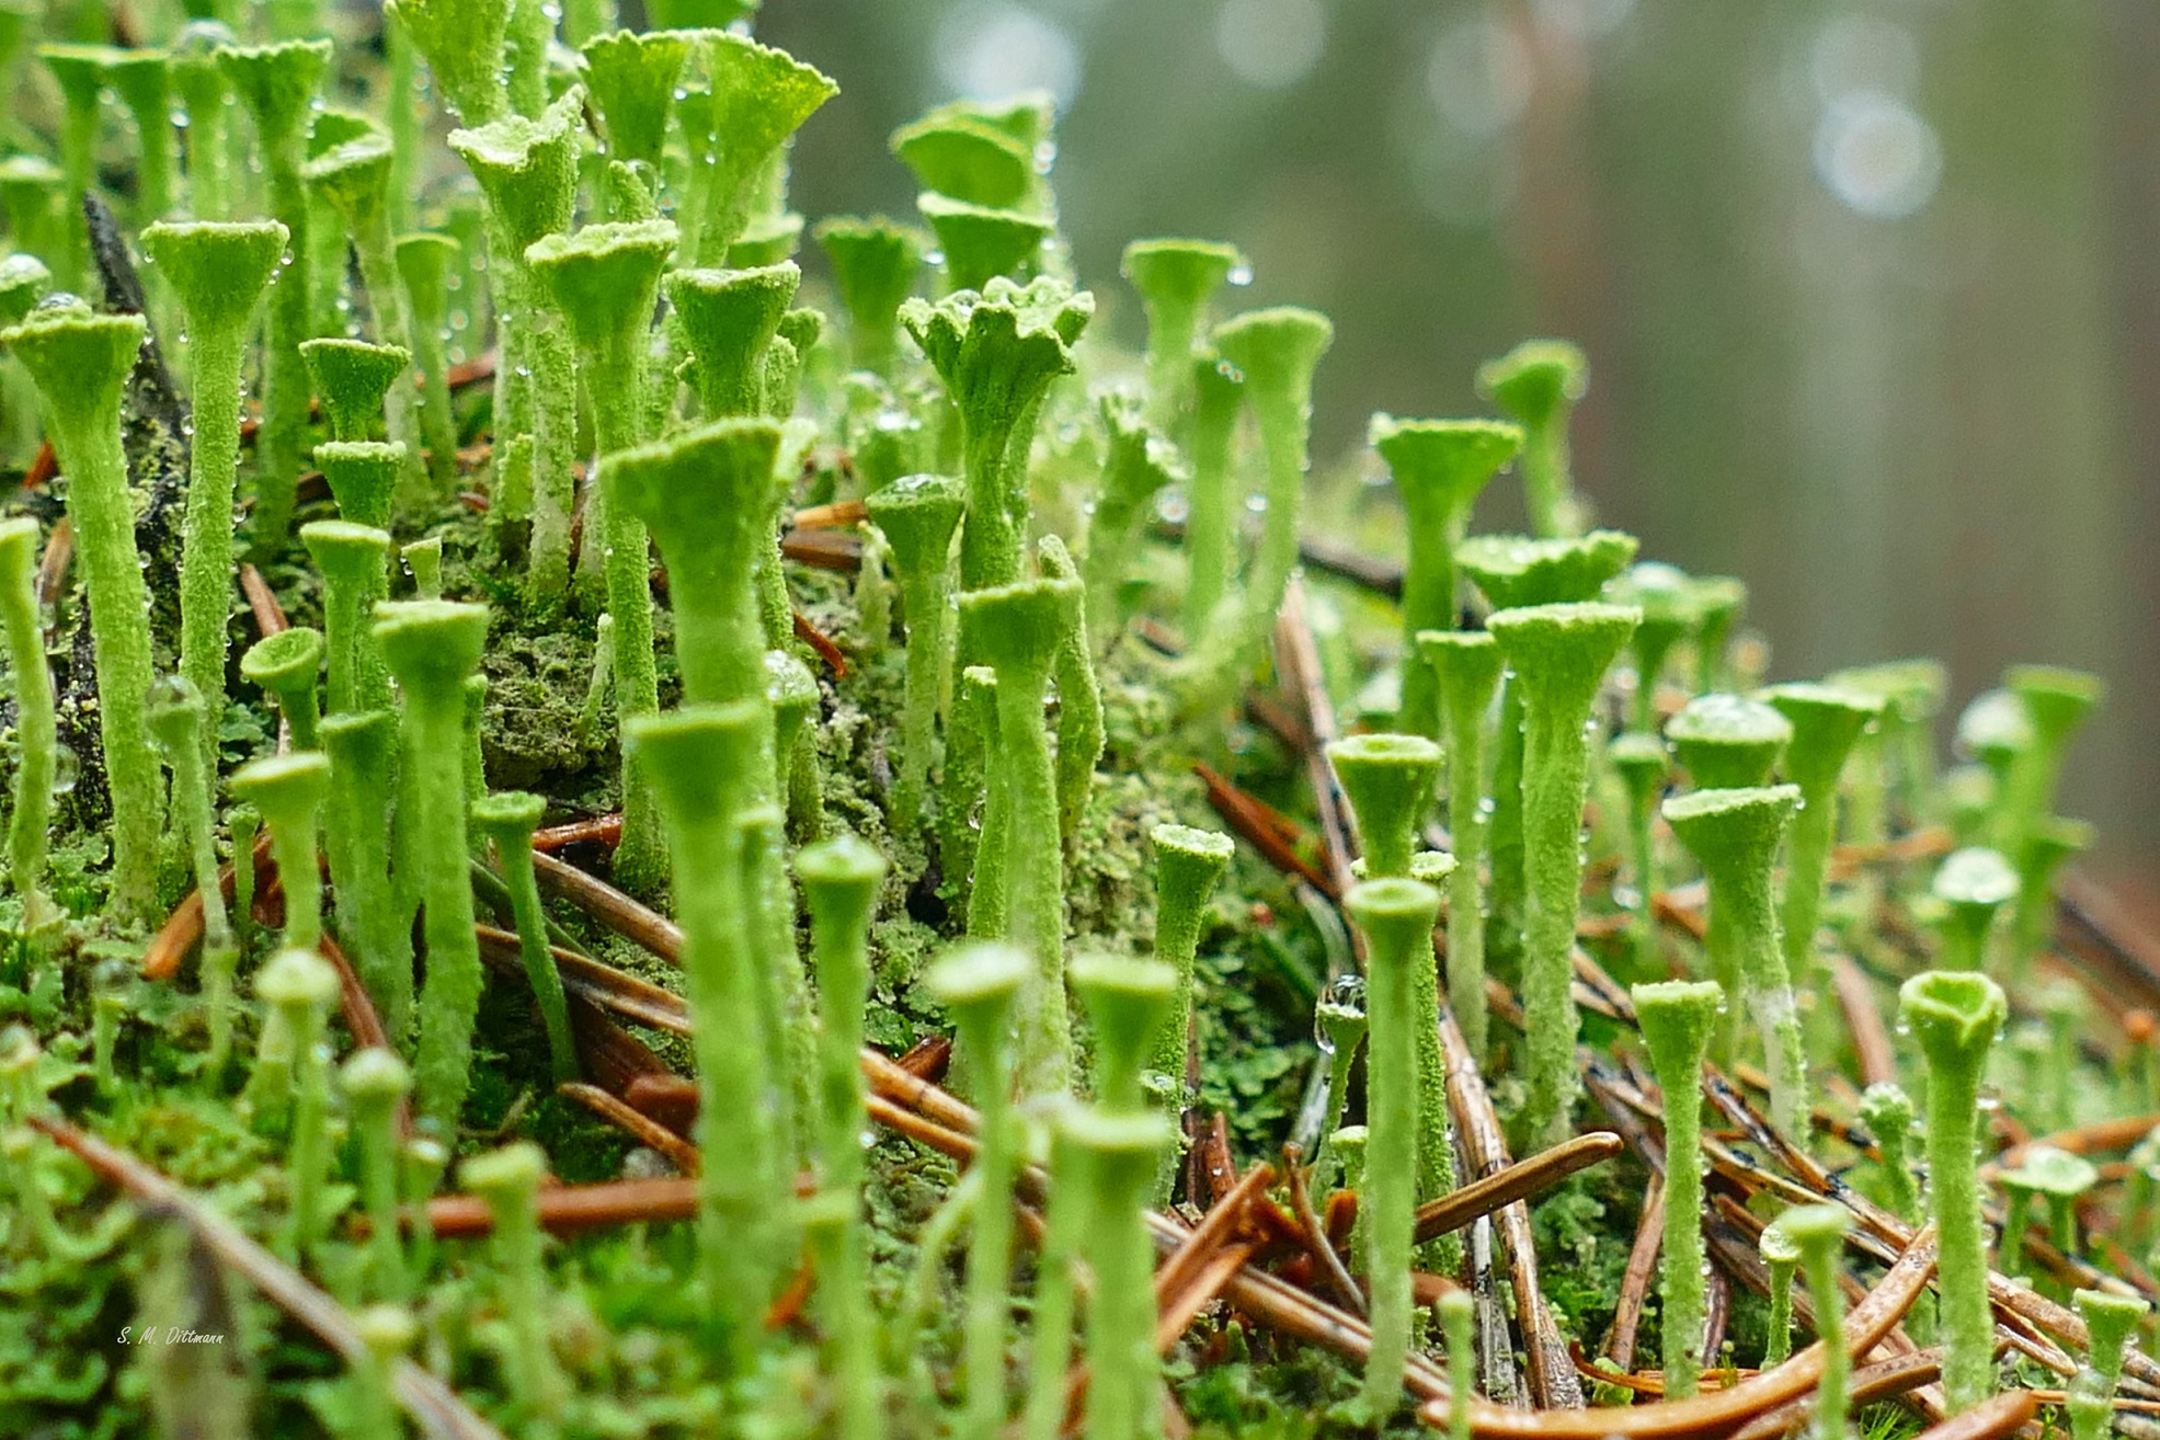
[{"label": "blurred grey-green forest background behind the lichen slope", "polygon": [[1052,89],[1097,324],[1138,341],[1130,237],[1244,246],[1240,300],[1335,317],[1322,460],[1581,341],[1579,484],[1745,576],[1773,676],[1938,654],[1948,725],[2004,663],[2106,674],[2065,807],[2149,885],[2160,4],[767,0],[758,35],[842,86],[810,216],[912,214],[866,162],[899,123]]}]

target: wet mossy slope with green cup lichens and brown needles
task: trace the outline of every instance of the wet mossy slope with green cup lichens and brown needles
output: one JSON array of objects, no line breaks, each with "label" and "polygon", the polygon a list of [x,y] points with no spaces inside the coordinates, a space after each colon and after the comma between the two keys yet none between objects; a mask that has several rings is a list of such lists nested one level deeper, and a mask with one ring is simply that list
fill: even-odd
[{"label": "wet mossy slope with green cup lichens and brown needles", "polygon": [[1076,276],[1039,97],[806,225],[730,4],[76,9],[0,6],[0,1434],[2149,1425],[2100,680],[1948,769],[1938,665],[1765,684],[1560,341],[1315,466],[1328,322]]}]

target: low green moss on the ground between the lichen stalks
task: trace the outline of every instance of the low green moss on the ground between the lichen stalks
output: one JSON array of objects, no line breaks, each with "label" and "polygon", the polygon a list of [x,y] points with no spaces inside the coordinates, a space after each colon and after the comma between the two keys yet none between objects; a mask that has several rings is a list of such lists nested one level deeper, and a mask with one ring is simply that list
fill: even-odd
[{"label": "low green moss on the ground between the lichen stalks", "polygon": [[[305,518],[305,516],[302,516]],[[611,715],[581,736],[579,712],[592,665],[590,622],[577,615],[538,622],[525,615],[503,555],[505,538],[484,514],[445,510],[428,533],[445,542],[449,594],[482,596],[495,607],[486,674],[490,680],[484,753],[497,788],[536,788],[551,799],[549,820],[605,814],[613,805],[616,756],[607,741]],[[514,557],[514,546],[512,546]],[[315,587],[305,566],[270,568],[292,620],[315,615]],[[806,617],[849,656],[847,674],[819,671],[823,689],[816,736],[827,825],[855,829],[896,857],[873,937],[873,1004],[868,1038],[890,1051],[940,1030],[940,1017],[916,989],[927,959],[959,930],[948,900],[922,874],[922,846],[886,831],[881,794],[892,775],[899,695],[899,628],[862,633],[849,576],[791,566],[791,589]],[[1315,581],[1315,630],[1331,682],[1344,695],[1372,695],[1372,650],[1385,646],[1385,609],[1367,596]],[[235,615],[235,639],[246,626]],[[672,684],[663,630],[663,693]],[[1108,753],[1097,769],[1069,877],[1076,946],[1145,952],[1151,943],[1151,879],[1143,836],[1160,820],[1216,823],[1192,775],[1188,741],[1171,725],[1171,706],[1156,687],[1158,661],[1123,643],[1106,671]],[[1385,676],[1378,682],[1385,691]],[[1380,695],[1385,699],[1385,693]],[[268,743],[274,717],[259,697],[235,691],[222,728],[227,751]],[[1274,734],[1236,723],[1212,745],[1210,760],[1292,814],[1307,814],[1302,758]],[[102,842],[69,833],[56,846],[56,894],[73,913],[69,948],[91,956],[134,954],[136,935],[114,935],[95,920]],[[596,846],[566,859],[605,870]],[[168,900],[179,898],[179,887]],[[6,902],[11,905],[11,902]],[[551,902],[551,915],[609,965],[657,984],[674,984],[672,967],[598,926],[575,907]],[[257,933],[255,946],[268,935]],[[1322,1056],[1311,1043],[1311,1006],[1331,972],[1350,963],[1341,930],[1324,907],[1298,892],[1253,851],[1240,848],[1201,943],[1199,1025],[1201,1103],[1229,1120],[1242,1164],[1272,1157],[1298,1123],[1300,1103]],[[1607,956],[1624,967],[1620,946]],[[119,1088],[99,1095],[91,1082],[86,1034],[91,995],[86,965],[32,961],[11,941],[0,965],[0,1019],[28,1021],[48,1045],[45,1079],[78,1123],[104,1133],[248,1228],[270,1233],[283,1209],[281,1144],[257,1133],[227,1090],[205,1092],[194,1077],[203,1043],[192,1004],[192,967],[177,982],[138,980],[127,987],[127,1019],[119,1032]],[[65,978],[63,978],[65,976]],[[689,1069],[680,1036],[639,1030],[676,1069]],[[1510,1041],[1501,1032],[1503,1043]],[[1609,1041],[1596,1030],[1592,1043]],[[242,1054],[248,1038],[242,1036]],[[546,1045],[529,997],[490,980],[475,1043],[475,1082],[464,1114],[464,1149],[525,1136],[538,1140],[559,1181],[585,1183],[665,1170],[648,1151],[585,1108],[553,1092]],[[1506,1082],[1497,1086],[1510,1101]],[[1359,1097],[1352,1095],[1352,1108]],[[1352,1110],[1354,1114],[1354,1110]],[[350,1382],[298,1326],[253,1298],[214,1263],[175,1239],[173,1226],[134,1215],[108,1190],[91,1183],[71,1159],[43,1161],[63,1198],[60,1224],[80,1254],[52,1263],[22,1235],[0,1246],[0,1427],[9,1434],[125,1436],[153,1423],[156,1395],[173,1386],[205,1395],[205,1405],[251,1408],[259,1434],[341,1434],[350,1418]],[[354,1155],[339,1157],[339,1198],[350,1200]],[[879,1313],[899,1304],[916,1265],[916,1235],[953,1183],[950,1161],[914,1144],[879,1136],[870,1149],[873,1274]],[[1594,1351],[1611,1323],[1620,1274],[1633,1241],[1646,1174],[1618,1159],[1577,1177],[1536,1209],[1547,1298],[1566,1334]],[[19,1226],[19,1222],[15,1222]],[[164,1235],[160,1239],[160,1235]],[[691,1235],[680,1224],[635,1224],[551,1246],[551,1334],[562,1362],[564,1395],[551,1414],[559,1436],[689,1436],[724,1405],[700,1345],[696,1302],[683,1285],[691,1269]],[[333,1291],[354,1293],[356,1250],[333,1241],[322,1276]],[[957,1261],[946,1287],[957,1287]],[[1017,1276],[1026,1293],[1026,1263]],[[950,1386],[957,1354],[957,1289],[929,1310],[929,1328],[909,1377],[918,1399]],[[173,1310],[188,1317],[173,1319]],[[484,1246],[445,1241],[421,1315],[423,1354],[482,1412],[516,1425],[518,1416],[497,1373],[508,1332],[492,1308],[490,1261]],[[1022,1306],[1024,1315],[1024,1306]],[[125,1345],[127,1326],[184,1323],[205,1330],[229,1319],[229,1341],[203,1358],[175,1347]],[[1730,1356],[1760,1351],[1763,1306],[1734,1295]],[[823,1380],[814,1328],[793,1321],[765,1369],[732,1382],[726,1403],[752,1405],[758,1436],[814,1436],[823,1423]],[[1024,1354],[1017,1343],[1015,1356]],[[1655,1354],[1655,1298],[1637,1354]],[[1367,1434],[1354,1405],[1356,1375],[1339,1360],[1287,1345],[1246,1321],[1214,1313],[1201,1319],[1171,1358],[1171,1380],[1201,1436],[1348,1436]],[[914,1431],[933,1434],[931,1410],[909,1408]],[[1408,1429],[1408,1421],[1400,1423]],[[1871,1436],[1905,1421],[1868,1416]],[[745,1431],[752,1434],[752,1431]]]}]

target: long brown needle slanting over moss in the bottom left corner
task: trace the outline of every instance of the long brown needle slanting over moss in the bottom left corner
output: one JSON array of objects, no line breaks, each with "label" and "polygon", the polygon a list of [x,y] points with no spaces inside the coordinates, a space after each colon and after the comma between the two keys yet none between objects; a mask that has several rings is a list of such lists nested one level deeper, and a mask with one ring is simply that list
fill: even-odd
[{"label": "long brown needle slanting over moss in the bottom left corner", "polygon": [[[335,1349],[346,1364],[365,1364],[369,1360],[367,1345],[354,1332],[346,1308],[315,1289],[292,1265],[255,1244],[231,1220],[134,1155],[76,1129],[58,1116],[30,1116],[28,1123],[78,1155],[108,1185],[117,1185],[134,1196],[143,1209],[166,1213],[186,1224],[212,1254],[261,1291],[266,1300],[313,1330],[315,1339]],[[391,1369],[391,1386],[404,1412],[432,1438],[503,1440],[503,1434],[473,1414],[447,1384],[410,1360],[397,1360]]]}]

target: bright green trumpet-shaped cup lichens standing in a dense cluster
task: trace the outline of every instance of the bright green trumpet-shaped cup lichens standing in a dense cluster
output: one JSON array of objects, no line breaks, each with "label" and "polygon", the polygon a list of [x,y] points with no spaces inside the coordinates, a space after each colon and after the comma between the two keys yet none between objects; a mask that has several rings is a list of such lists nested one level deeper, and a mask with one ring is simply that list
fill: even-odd
[{"label": "bright green trumpet-shaped cup lichens standing in a dense cluster", "polygon": [[[0,162],[0,427],[24,458],[50,440],[67,522],[65,540],[32,516],[0,525],[9,883],[28,956],[4,1000],[35,1021],[0,1041],[11,1285],[43,1295],[50,1267],[119,1244],[65,1233],[54,1198],[82,1177],[30,1123],[58,1105],[164,1144],[160,1125],[179,1120],[147,1116],[171,1090],[175,1114],[238,1116],[227,1149],[279,1157],[251,1226],[356,1310],[350,1375],[322,1401],[352,1434],[400,1434],[408,1351],[447,1375],[486,1351],[471,1388],[518,1434],[756,1414],[771,1434],[950,1425],[987,1440],[1017,1416],[1048,1440],[1076,1362],[1091,1436],[1158,1434],[1151,1246],[1175,1222],[1145,1207],[1207,1200],[1175,1185],[1171,1138],[1227,1060],[1201,959],[1236,855],[1194,825],[1182,771],[1255,749],[1231,715],[1266,669],[1320,488],[1307,425],[1328,322],[1294,307],[1216,320],[1244,257],[1143,240],[1125,279],[1145,352],[1121,352],[1058,237],[1041,97],[940,106],[892,136],[920,225],[806,227],[786,201],[788,140],[836,86],[750,39],[730,0],[654,0],[644,32],[618,30],[611,0],[391,0],[380,24],[313,0],[149,9],[130,47],[82,43],[95,2],[0,9],[0,76],[54,99]],[[477,352],[482,335],[484,397],[451,348]],[[2052,814],[2054,788],[2100,687],[2013,669],[1966,710],[1972,764],[1946,777],[1931,760],[1940,667],[1765,689],[1739,581],[1635,563],[1633,538],[1585,533],[1568,462],[1583,384],[1579,352],[1531,341],[1477,376],[1506,419],[1372,423],[1408,544],[1400,626],[1352,637],[1393,680],[1391,704],[1326,751],[1363,851],[1339,896],[1363,950],[1331,967],[1363,963],[1367,987],[1326,989],[1318,1133],[1300,1140],[1354,1192],[1348,1267],[1369,1315],[1363,1390],[1326,1423],[1398,1416],[1404,1362],[1432,1339],[1413,1267],[1469,1278],[1452,1237],[1417,1246],[1415,1211],[1464,1179],[1452,1131],[1484,1103],[1480,1067],[1525,1153],[1585,1118],[1572,984],[1583,920],[1605,913],[1624,943],[1598,954],[1635,982],[1622,1019],[1663,1082],[1665,1393],[1693,1393],[1711,1362],[1702,1067],[1760,1056],[1771,1125],[1806,1144],[1851,1060],[1832,1019],[1851,948],[1881,974],[1922,972],[1901,1013],[1925,1060],[1912,1079],[1927,1088],[1944,1380],[1966,1408],[1994,1386],[1972,1114],[2007,1015],[1981,972],[2022,982],[2048,948],[2054,872],[2089,844]],[[1510,464],[1534,533],[1471,535]],[[179,559],[145,574],[138,512],[162,488],[184,497]],[[853,535],[784,546],[810,507]],[[251,596],[261,637],[235,656],[242,553],[320,626],[281,628]],[[812,559],[853,570],[851,589]],[[60,695],[41,598],[80,615]],[[827,639],[819,622],[838,646],[808,643]],[[508,702],[495,682],[529,695],[531,656],[555,639],[590,654],[590,674],[553,710]],[[896,695],[870,702],[881,682]],[[521,741],[542,717],[562,734]],[[63,721],[106,803],[58,820],[73,855],[108,816],[95,905],[54,900]],[[259,745],[229,753],[251,734]],[[490,769],[531,753],[570,756],[536,771],[559,794],[490,790]],[[1140,797],[1119,764],[1147,766]],[[562,1155],[467,1129],[505,1060],[482,1023],[490,997],[536,1010],[546,1082],[631,1088],[585,1051],[605,1045],[577,1017],[605,987],[559,967],[592,965],[590,930],[551,909],[534,859],[536,829],[592,799],[620,810],[609,879],[672,913],[689,1043],[667,1054],[696,1075],[693,1360],[654,1367],[676,1390],[644,1421],[609,1403],[613,1362],[588,1347],[564,1364],[557,1321],[594,1291],[549,1265],[542,1187]],[[1246,814],[1266,831],[1246,840],[1294,844],[1294,818]],[[1916,898],[1914,866],[1879,861],[1931,827],[1957,848]],[[1078,926],[1084,889],[1149,889],[1143,853],[1153,937],[1145,922]],[[255,933],[272,898],[257,870],[274,874],[274,939]],[[1689,911],[1693,879],[1704,924],[1676,937],[1659,902]],[[475,896],[514,928],[492,980]],[[1881,902],[1938,922],[1918,965],[1871,948]],[[2013,915],[2000,933],[1998,909]],[[192,997],[125,967],[91,978],[91,959],[140,954],[181,920]],[[937,956],[914,974],[924,948]],[[1285,952],[1318,995],[1311,956]],[[1495,984],[1518,989],[1518,1032],[1488,1015]],[[56,991],[82,1002],[86,1041]],[[890,1304],[864,1304],[873,1261],[901,1241],[875,1194],[888,1172],[862,1153],[860,1045],[896,1006],[950,1021],[976,1131],[968,1181],[909,1237],[916,1269],[886,1287]],[[356,1015],[380,1043],[361,1043]],[[2048,1017],[2061,1058],[2076,1002]],[[160,1021],[175,1043],[123,1073],[117,1051],[151,1049],[127,1051],[127,1028]],[[1344,1125],[1361,1043],[1363,1125]],[[1912,1105],[1877,1086],[1866,1114],[1909,1123]],[[492,1118],[495,1140],[516,1129],[514,1110]],[[2054,1105],[2054,1127],[2078,1118]],[[1881,1140],[1881,1192],[1918,1224],[1905,1138]],[[2000,1177],[2013,1272],[2035,1194],[2054,1250],[2080,1248],[2058,1203],[2080,1177],[2048,1155]],[[434,1241],[445,1174],[484,1200],[486,1265]],[[1015,1198],[1041,1213],[1017,1384]],[[2130,1222],[2149,1239],[2149,1215]],[[948,1349],[918,1354],[961,1226]],[[1782,1287],[1806,1269],[1832,1341],[1847,1228],[1842,1209],[1793,1211],[1763,1241]],[[769,1315],[806,1256],[816,1380],[791,1408],[775,1390],[801,1347]],[[1771,1300],[1782,1315],[1786,1295]],[[2080,1427],[2108,1414],[2121,1302],[2080,1293],[2095,1336],[2117,1334],[2095,1339]],[[1506,1360],[1471,1364],[1464,1306],[1441,1321],[1458,1403],[1439,1418],[1467,1429],[1462,1388]],[[1823,1367],[1825,1434],[1845,1423],[1845,1380]],[[45,1371],[39,1384],[54,1388]],[[212,1390],[248,1405],[244,1373]]]}]

